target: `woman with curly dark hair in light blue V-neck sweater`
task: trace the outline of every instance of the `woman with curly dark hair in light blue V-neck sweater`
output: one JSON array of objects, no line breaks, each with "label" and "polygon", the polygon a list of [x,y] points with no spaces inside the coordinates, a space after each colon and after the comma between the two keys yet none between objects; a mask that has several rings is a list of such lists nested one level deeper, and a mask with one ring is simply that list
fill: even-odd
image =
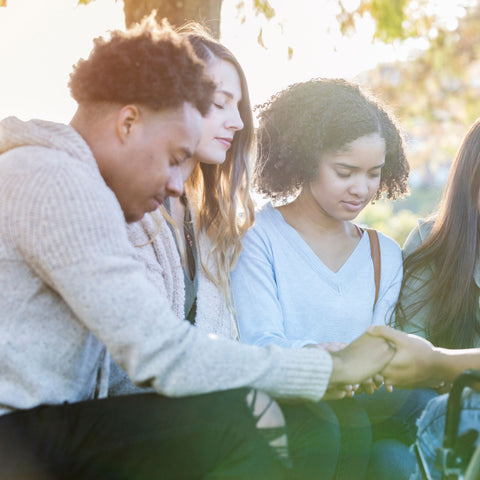
[{"label": "woman with curly dark hair in light blue V-neck sweater", "polygon": [[[254,182],[273,203],[258,212],[232,276],[243,342],[335,351],[368,326],[388,322],[402,282],[401,249],[353,221],[371,201],[406,193],[408,173],[394,117],[357,85],[313,79],[261,107]],[[373,396],[359,395],[373,393],[382,381],[376,377],[360,386],[354,399],[331,402],[341,424],[354,417],[364,424],[363,431],[342,432],[349,449],[344,465],[345,458],[357,459],[351,462],[355,478],[365,472],[368,478],[408,478],[413,458],[406,444],[414,440],[421,407],[435,394],[391,394],[382,388]],[[352,396],[355,389],[331,395]],[[377,425],[379,411],[386,431]],[[390,430],[397,414],[397,424],[408,428]],[[373,421],[374,440],[379,435],[386,441],[375,444],[379,453],[368,466],[365,431]],[[385,459],[390,465],[383,472],[378,461]]]}]

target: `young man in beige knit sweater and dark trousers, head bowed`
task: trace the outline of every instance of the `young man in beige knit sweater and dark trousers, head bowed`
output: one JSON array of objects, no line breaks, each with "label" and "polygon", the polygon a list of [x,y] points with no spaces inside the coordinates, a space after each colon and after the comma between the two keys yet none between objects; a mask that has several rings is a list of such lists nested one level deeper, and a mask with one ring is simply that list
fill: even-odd
[{"label": "young man in beige knit sweater and dark trousers, head bowed", "polygon": [[[0,122],[2,478],[279,479],[249,388],[317,401],[391,359],[368,335],[339,355],[214,338],[149,282],[126,222],[183,193],[204,70],[147,20],[77,64],[70,125]],[[155,393],[106,398],[110,355]]]}]

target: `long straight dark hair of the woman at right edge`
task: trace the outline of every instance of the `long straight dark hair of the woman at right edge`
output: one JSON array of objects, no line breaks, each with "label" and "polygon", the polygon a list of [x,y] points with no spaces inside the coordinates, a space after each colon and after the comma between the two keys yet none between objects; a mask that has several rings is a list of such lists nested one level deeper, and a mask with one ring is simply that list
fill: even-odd
[{"label": "long straight dark hair of the woman at right edge", "polygon": [[[480,334],[479,289],[474,279],[480,254],[479,194],[480,119],[457,152],[430,234],[404,261],[395,312],[395,323],[401,328],[428,305],[425,335],[440,347],[473,347],[475,334]],[[425,268],[431,269],[431,278],[415,291],[418,300],[411,302],[403,297],[403,286],[416,275],[423,278]]]}]

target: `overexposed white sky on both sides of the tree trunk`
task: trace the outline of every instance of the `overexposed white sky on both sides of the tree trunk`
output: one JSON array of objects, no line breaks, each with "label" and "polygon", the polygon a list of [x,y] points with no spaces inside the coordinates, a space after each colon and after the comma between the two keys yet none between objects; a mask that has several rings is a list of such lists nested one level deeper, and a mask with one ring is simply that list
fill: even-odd
[{"label": "overexposed white sky on both sides of the tree trunk", "polygon": [[[244,23],[236,8],[238,0],[223,1],[221,40],[244,67],[253,104],[291,83],[312,77],[351,79],[379,62],[405,60],[428,45],[426,40],[392,45],[374,41],[375,25],[368,15],[359,21],[353,37],[343,36],[335,19],[338,1],[270,0],[276,12],[270,21],[254,15],[245,2]],[[445,22],[456,22],[473,1],[429,0],[429,5],[442,13]],[[0,8],[0,118],[70,120],[75,109],[67,88],[72,65],[88,55],[93,38],[124,28],[122,0],[77,3],[14,0]],[[342,3],[352,9],[358,0]],[[266,48],[257,43],[261,28]]]}]

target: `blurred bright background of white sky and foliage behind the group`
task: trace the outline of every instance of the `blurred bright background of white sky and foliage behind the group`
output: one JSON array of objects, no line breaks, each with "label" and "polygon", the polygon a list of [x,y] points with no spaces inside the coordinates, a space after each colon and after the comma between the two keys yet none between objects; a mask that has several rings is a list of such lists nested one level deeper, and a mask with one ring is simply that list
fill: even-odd
[{"label": "blurred bright background of white sky and foliage behind the group", "polygon": [[[412,167],[410,194],[376,202],[358,222],[402,245],[417,220],[436,211],[456,150],[480,116],[477,0],[217,3],[218,18],[203,20],[219,26],[238,57],[254,104],[297,81],[341,77],[396,115]],[[125,28],[126,7],[122,0],[0,0],[0,118],[68,122],[72,66],[93,38]]]}]

